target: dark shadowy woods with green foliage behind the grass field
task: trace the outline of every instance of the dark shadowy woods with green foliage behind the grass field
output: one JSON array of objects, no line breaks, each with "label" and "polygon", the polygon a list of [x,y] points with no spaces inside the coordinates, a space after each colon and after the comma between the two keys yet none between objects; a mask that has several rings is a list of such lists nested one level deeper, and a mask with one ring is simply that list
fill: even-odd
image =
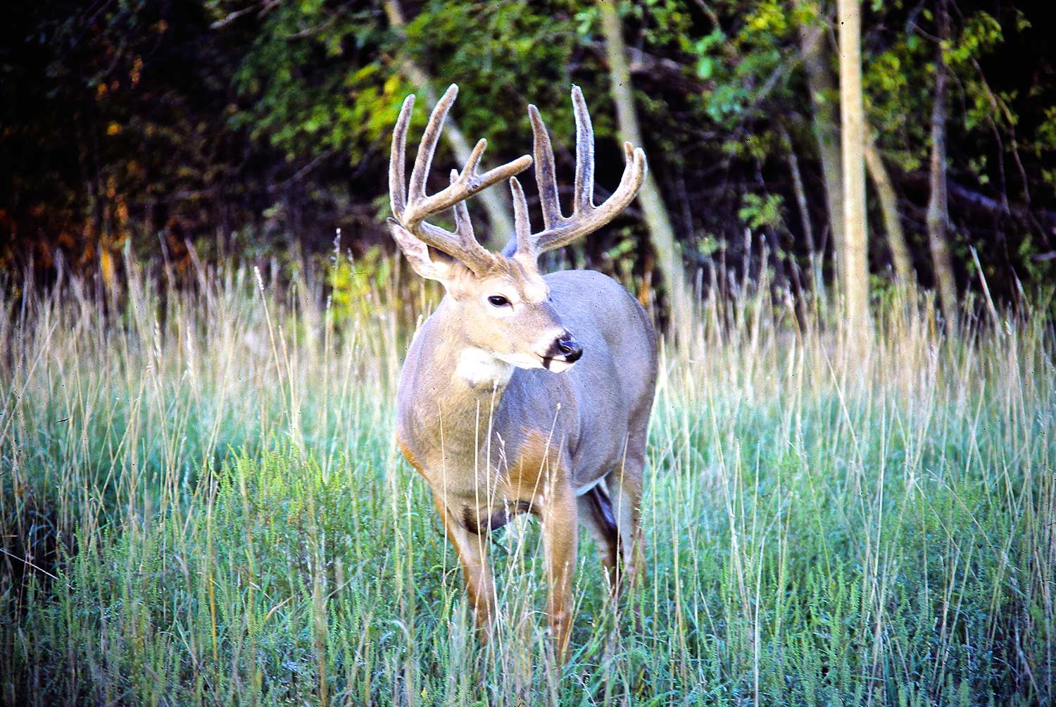
[{"label": "dark shadowy woods with green foliage behind the grass field", "polygon": [[[391,250],[396,112],[418,93],[420,127],[430,94],[451,81],[461,89],[452,118],[469,141],[489,138],[490,164],[530,150],[528,103],[558,141],[573,134],[568,89],[581,86],[600,201],[628,129],[615,80],[634,87],[623,109],[661,200],[567,257],[641,290],[670,280],[666,227],[691,282],[710,286],[723,266],[757,274],[765,257],[779,286],[816,287],[817,273],[836,274],[841,236],[832,5],[623,3],[614,35],[610,8],[589,2],[14,3],[0,29],[0,267],[8,282],[26,268],[48,282],[61,261],[110,284],[132,257],[178,278],[191,249],[324,257],[336,228],[342,249]],[[1054,22],[1050,3],[862,6],[873,296],[903,276],[937,287],[948,268],[963,298],[979,289],[973,250],[999,300],[1056,280]],[[929,247],[937,125],[946,265]],[[570,173],[573,146],[554,147]],[[438,164],[455,164],[457,149],[442,144]],[[502,229],[508,208],[506,194],[490,199],[471,205],[484,232]]]}]

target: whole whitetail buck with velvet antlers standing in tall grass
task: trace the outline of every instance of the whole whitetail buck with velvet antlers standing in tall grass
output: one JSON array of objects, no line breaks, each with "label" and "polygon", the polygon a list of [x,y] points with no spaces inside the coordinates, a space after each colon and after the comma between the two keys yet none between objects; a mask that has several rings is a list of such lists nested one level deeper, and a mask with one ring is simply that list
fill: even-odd
[{"label": "whole whitetail buck with velvet antlers standing in tall grass", "polygon": [[[550,138],[529,106],[545,224],[532,234],[524,191],[513,176],[532,159],[477,174],[484,139],[460,173],[452,170],[450,186],[426,196],[456,93],[451,86],[430,116],[408,191],[404,150],[414,96],[403,103],[393,131],[390,230],[415,272],[447,291],[408,351],[396,438],[433,489],[461,559],[482,638],[493,617],[495,591],[483,536],[520,513],[542,520],[550,629],[563,659],[579,520],[598,542],[614,598],[641,570],[639,508],[657,377],[656,334],[638,301],[610,278],[592,271],[544,277],[536,259],[611,221],[641,186],[645,154],[624,145],[620,186],[595,206],[593,131],[583,94],[573,88],[576,188],[572,215],[565,217]],[[465,200],[507,178],[515,234],[499,255],[477,243]],[[454,209],[454,232],[426,221],[448,208]]]}]

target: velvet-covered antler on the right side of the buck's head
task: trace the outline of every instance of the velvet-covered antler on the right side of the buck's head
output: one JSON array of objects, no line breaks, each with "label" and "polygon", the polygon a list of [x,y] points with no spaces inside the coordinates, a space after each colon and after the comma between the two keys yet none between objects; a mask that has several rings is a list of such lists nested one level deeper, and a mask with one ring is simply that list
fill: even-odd
[{"label": "velvet-covered antler on the right side of the buck's head", "polygon": [[580,87],[572,87],[572,110],[576,114],[576,187],[572,198],[572,216],[561,213],[558,200],[558,179],[553,166],[553,149],[546,125],[534,106],[528,107],[534,135],[535,183],[539,185],[540,204],[543,207],[543,230],[531,234],[528,223],[528,203],[516,178],[510,178],[513,192],[513,215],[516,237],[506,246],[506,255],[525,255],[532,260],[540,254],[560,248],[581,236],[601,228],[630,203],[645,179],[645,153],[630,143],[623,144],[626,166],[620,186],[600,206],[593,205],[593,128],[590,113]]}]

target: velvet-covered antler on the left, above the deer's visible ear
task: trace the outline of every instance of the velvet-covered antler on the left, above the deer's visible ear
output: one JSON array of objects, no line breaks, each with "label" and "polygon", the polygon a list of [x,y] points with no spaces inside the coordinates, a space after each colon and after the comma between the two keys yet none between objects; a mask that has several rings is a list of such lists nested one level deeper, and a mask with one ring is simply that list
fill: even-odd
[{"label": "velvet-covered antler on the left, above the deer's visible ear", "polygon": [[[439,141],[451,104],[455,101],[457,95],[458,87],[452,83],[429,116],[429,124],[421,135],[421,144],[414,159],[409,192],[404,192],[403,170],[407,160],[407,130],[411,123],[414,96],[410,95],[403,101],[399,119],[393,130],[392,156],[389,162],[389,200],[393,216],[403,228],[427,245],[461,261],[473,272],[483,273],[490,266],[493,256],[473,236],[466,200],[496,182],[524,171],[531,165],[532,159],[526,154],[484,174],[477,174],[476,166],[484,154],[484,148],[488,145],[488,141],[482,138],[470,153],[461,173],[451,170],[451,185],[432,197],[427,197],[426,179],[429,176],[429,168],[436,152],[436,143]],[[454,207],[455,212],[455,232],[452,234],[426,221],[429,217],[451,207]]]}]

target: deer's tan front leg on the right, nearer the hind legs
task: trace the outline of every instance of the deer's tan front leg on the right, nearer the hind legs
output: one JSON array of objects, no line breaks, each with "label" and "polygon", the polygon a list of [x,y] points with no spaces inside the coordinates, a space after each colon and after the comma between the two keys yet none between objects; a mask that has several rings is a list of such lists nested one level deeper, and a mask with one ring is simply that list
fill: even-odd
[{"label": "deer's tan front leg on the right, nearer the hind legs", "polygon": [[564,663],[572,628],[572,575],[579,532],[576,494],[568,482],[558,484],[541,515],[550,588],[547,613],[558,662]]}]

